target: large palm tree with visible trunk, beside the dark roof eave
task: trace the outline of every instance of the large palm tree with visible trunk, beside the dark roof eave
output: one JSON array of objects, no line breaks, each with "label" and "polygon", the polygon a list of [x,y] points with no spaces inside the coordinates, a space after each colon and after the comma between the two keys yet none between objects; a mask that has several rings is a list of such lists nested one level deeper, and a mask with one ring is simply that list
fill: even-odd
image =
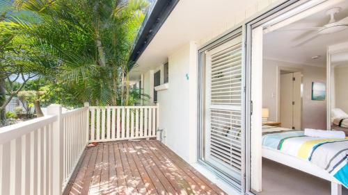
[{"label": "large palm tree with visible trunk, beside the dark roof eave", "polygon": [[14,4],[31,12],[31,17],[17,22],[57,56],[56,83],[68,87],[74,99],[94,105],[127,104],[125,86],[134,65],[128,62],[129,53],[147,1],[17,0]]}]

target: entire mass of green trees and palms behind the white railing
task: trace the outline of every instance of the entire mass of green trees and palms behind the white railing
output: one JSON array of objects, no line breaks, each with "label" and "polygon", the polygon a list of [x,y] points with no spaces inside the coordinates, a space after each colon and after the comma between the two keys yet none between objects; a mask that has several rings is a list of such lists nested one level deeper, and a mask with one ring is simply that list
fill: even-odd
[{"label": "entire mass of green trees and palms behind the white railing", "polygon": [[145,0],[0,0],[1,121],[22,90],[42,104],[136,102],[128,59],[147,8]]}]

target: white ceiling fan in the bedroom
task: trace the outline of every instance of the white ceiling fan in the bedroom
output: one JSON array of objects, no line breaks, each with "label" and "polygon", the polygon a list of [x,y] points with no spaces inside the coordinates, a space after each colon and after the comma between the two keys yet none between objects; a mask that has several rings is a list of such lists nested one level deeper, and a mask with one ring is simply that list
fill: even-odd
[{"label": "white ceiling fan in the bedroom", "polygon": [[[314,31],[313,33],[309,33],[308,35],[305,35],[304,37],[299,38],[296,40],[294,47],[301,46],[302,44],[305,44],[306,42],[309,42],[310,40],[315,39],[319,35],[327,35],[331,33],[336,33],[338,31],[342,31],[345,28],[348,28],[348,17],[345,17],[343,19],[340,19],[340,21],[335,20],[335,14],[340,12],[340,7],[331,8],[329,10],[326,10],[326,15],[330,16],[330,21],[328,24],[325,24],[321,27],[303,27],[303,28],[283,28],[284,31],[293,31],[293,30],[301,30],[301,31]],[[280,28],[281,29],[281,28]]]}]

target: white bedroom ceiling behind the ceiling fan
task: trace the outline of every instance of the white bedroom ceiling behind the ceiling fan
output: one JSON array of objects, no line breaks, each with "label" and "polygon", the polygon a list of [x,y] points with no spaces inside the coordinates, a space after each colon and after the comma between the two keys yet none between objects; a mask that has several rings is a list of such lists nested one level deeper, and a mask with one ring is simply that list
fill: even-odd
[{"label": "white bedroom ceiling behind the ceiling fan", "polygon": [[[338,4],[342,10],[335,15],[336,21],[348,16],[348,1]],[[303,27],[303,26],[323,26],[329,22],[326,10],[317,12],[310,17],[301,19],[283,28]],[[287,62],[298,62],[304,65],[322,66],[326,65],[326,46],[348,41],[348,28],[343,31],[320,35],[314,40],[310,40],[301,46],[293,47],[294,41],[313,33],[313,31],[285,31],[279,30],[264,35],[264,58],[282,60]],[[313,56],[321,56],[313,60]]]}]

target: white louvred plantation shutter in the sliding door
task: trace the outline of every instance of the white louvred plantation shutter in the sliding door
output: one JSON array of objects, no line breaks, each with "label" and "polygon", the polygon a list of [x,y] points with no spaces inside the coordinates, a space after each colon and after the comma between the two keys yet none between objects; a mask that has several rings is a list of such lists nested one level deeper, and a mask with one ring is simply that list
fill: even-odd
[{"label": "white louvred plantation shutter in the sliding door", "polygon": [[205,60],[205,157],[240,180],[242,37],[206,51]]}]

